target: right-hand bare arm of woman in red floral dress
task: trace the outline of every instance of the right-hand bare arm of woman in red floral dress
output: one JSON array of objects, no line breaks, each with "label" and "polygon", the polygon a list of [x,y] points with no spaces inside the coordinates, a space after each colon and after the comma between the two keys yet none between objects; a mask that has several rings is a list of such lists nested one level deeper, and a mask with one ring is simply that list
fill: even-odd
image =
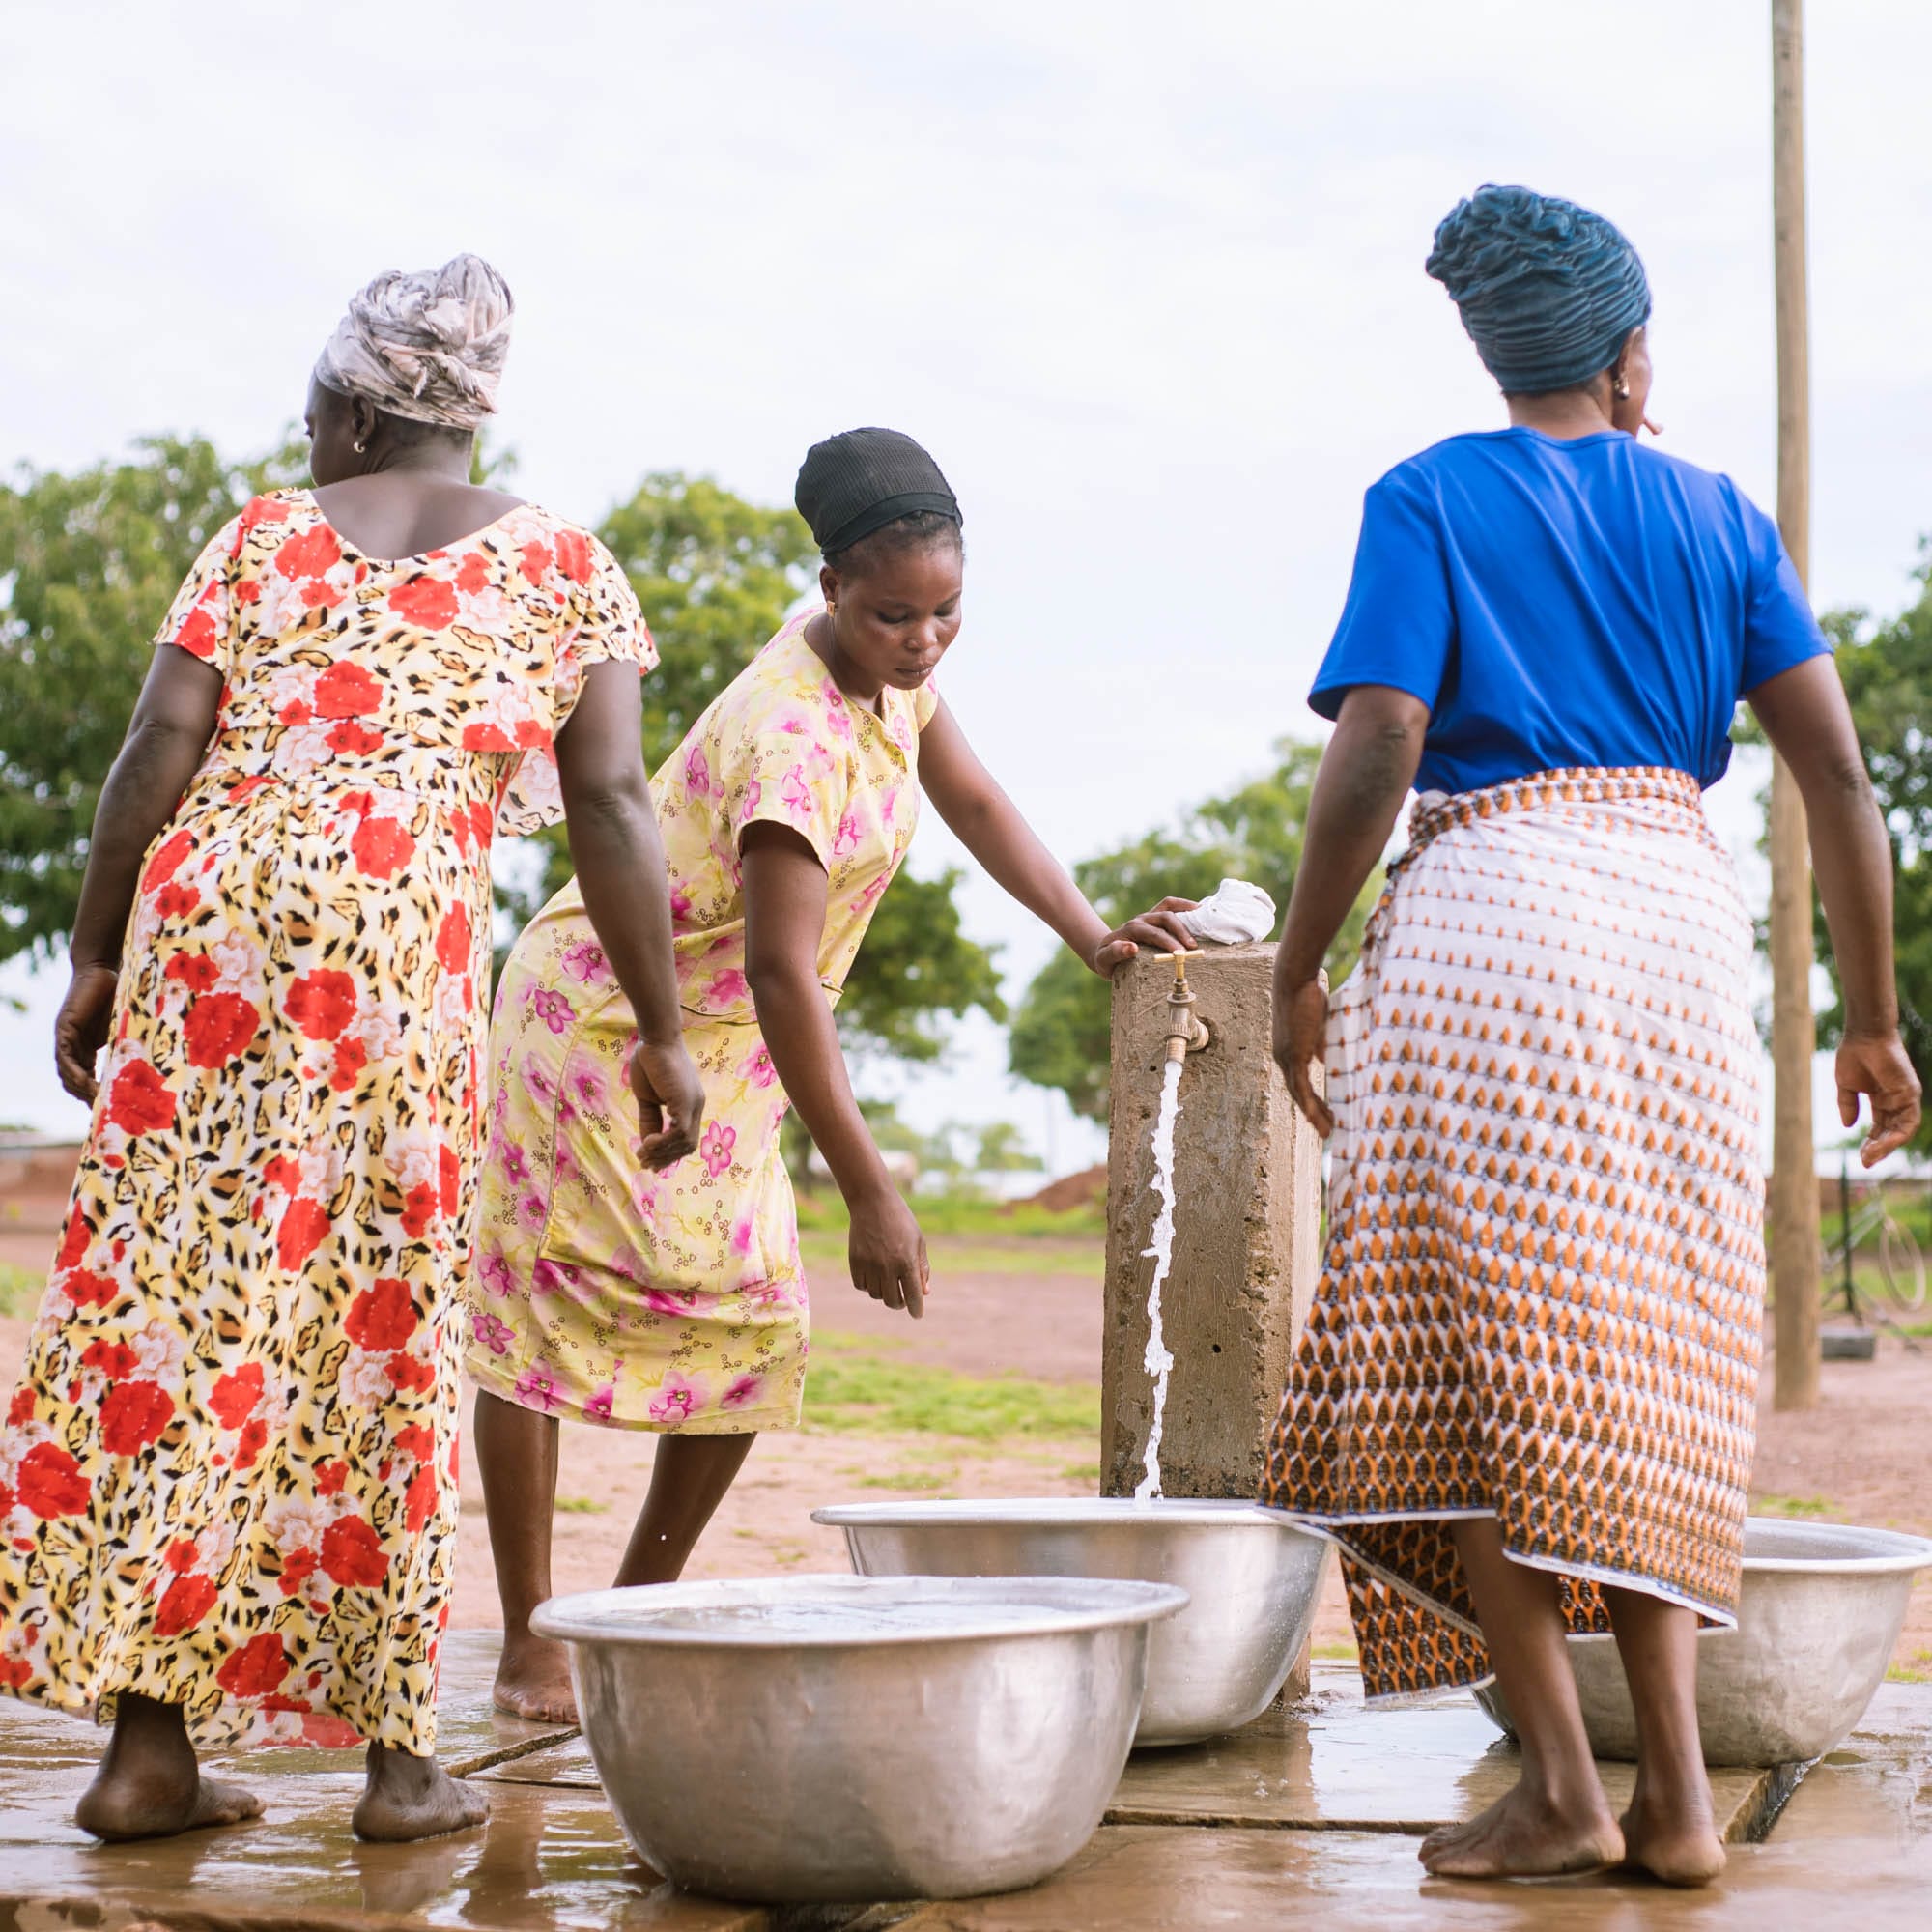
[{"label": "right-hand bare arm of woman in red floral dress", "polygon": [[684,1051],[670,889],[641,732],[636,668],[591,665],[576,709],[556,734],[556,773],[583,910],[638,1016],[630,1084],[643,1126],[643,1157],[651,1167],[668,1167],[697,1146],[705,1090]]}]

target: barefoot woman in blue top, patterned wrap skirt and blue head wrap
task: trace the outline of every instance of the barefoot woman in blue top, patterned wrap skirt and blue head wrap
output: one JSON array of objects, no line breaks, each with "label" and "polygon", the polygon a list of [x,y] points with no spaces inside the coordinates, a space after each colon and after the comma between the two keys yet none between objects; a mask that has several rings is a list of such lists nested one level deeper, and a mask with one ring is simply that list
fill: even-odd
[{"label": "barefoot woman in blue top, patterned wrap skirt and blue head wrap", "polygon": [[[1650,292],[1573,203],[1484,187],[1435,232],[1509,404],[1370,493],[1314,688],[1337,721],[1275,968],[1275,1057],[1333,1134],[1325,1273],[1264,1497],[1343,1546],[1372,1696],[1495,1679],[1522,1781],[1443,1876],[1723,1864],[1700,1625],[1737,1615],[1764,1308],[1750,918],[1700,792],[1747,699],[1791,763],[1866,1161],[1918,1122],[1891,862],[1830,649],[1770,518],[1636,440]],[[1410,848],[1329,1007],[1320,968]],[[1318,1086],[1312,1066],[1325,1059]],[[1638,1716],[1611,1816],[1565,1631]]]}]

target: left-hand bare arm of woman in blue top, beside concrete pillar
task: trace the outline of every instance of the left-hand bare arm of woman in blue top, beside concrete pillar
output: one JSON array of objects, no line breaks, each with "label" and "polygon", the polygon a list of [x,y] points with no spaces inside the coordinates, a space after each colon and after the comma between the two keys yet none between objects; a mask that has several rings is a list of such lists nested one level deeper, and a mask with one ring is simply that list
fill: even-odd
[{"label": "left-hand bare arm of woman in blue top, beside concrete pillar", "polygon": [[1420,697],[1358,684],[1341,703],[1308,800],[1302,864],[1275,949],[1275,1065],[1321,1136],[1335,1126],[1312,1070],[1327,1030],[1321,960],[1389,848],[1428,726],[1430,707]]}]

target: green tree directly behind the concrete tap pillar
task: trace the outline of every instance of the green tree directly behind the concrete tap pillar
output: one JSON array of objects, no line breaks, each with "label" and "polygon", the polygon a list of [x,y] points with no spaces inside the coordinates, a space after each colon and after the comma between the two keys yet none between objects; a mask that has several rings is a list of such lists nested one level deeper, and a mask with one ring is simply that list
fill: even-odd
[{"label": "green tree directly behind the concrete tap pillar", "polygon": [[[1101,918],[1119,923],[1155,900],[1206,898],[1221,879],[1252,879],[1287,908],[1302,860],[1308,794],[1321,746],[1283,738],[1273,771],[1223,798],[1194,806],[1179,831],[1146,833],[1128,846],[1074,866],[1080,891]],[[1376,902],[1372,879],[1329,949],[1337,983],[1362,949],[1362,925]],[[1107,1119],[1109,993],[1103,980],[1061,951],[1026,989],[1009,1039],[1010,1066],[1022,1080],[1059,1088],[1074,1113]]]}]

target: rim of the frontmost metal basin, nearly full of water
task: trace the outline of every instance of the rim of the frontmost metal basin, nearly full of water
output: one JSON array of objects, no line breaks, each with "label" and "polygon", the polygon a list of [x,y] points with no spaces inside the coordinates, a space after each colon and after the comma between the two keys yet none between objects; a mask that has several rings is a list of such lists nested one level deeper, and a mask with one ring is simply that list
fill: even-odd
[{"label": "rim of the frontmost metal basin, nearly full of water", "polygon": [[[707,1609],[744,1602],[782,1602],[786,1596],[808,1596],[804,1586],[831,1596],[891,1596],[912,1582],[943,1582],[947,1594],[966,1604],[997,1604],[1016,1590],[1043,1596],[1088,1594],[1086,1604],[1070,1604],[1065,1611],[1039,1607],[1030,1619],[958,1621],[933,1631],[871,1631],[800,1634],[798,1631],[663,1631],[645,1625],[626,1629],[605,1623],[599,1611],[620,1605],[639,1592],[649,1592],[653,1609]],[[1034,1605],[1030,1605],[1034,1607]],[[1179,1584],[1138,1582],[1113,1577],[852,1577],[840,1571],[810,1571],[804,1577],[736,1577],[705,1582],[632,1584],[624,1590],[574,1590],[553,1596],[531,1613],[529,1627],[537,1636],[566,1644],[624,1644],[632,1648],[676,1646],[684,1650],[875,1650],[885,1644],[956,1644],[987,1642],[1020,1636],[1078,1636],[1082,1631],[1105,1631],[1122,1623],[1155,1623],[1188,1607],[1188,1592]]]}]

